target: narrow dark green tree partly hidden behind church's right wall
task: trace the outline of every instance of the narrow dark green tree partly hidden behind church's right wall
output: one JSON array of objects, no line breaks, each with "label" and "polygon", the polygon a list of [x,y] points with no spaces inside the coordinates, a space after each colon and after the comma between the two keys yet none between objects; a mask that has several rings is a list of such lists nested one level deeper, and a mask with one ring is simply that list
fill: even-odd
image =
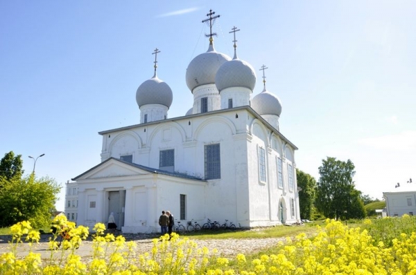
[{"label": "narrow dark green tree partly hidden behind church's right wall", "polygon": [[313,203],[315,202],[316,180],[311,175],[296,169],[297,187],[299,191],[300,217],[311,220]]}]

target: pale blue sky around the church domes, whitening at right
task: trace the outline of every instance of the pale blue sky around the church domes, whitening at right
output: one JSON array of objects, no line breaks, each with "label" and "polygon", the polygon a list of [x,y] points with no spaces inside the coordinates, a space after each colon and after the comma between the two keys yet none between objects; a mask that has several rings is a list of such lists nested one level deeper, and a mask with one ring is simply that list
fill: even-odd
[{"label": "pale blue sky around the church domes, whitening at right", "polygon": [[318,180],[322,159],[351,159],[356,188],[373,198],[416,180],[416,1],[0,0],[1,157],[22,155],[31,173],[28,155],[44,153],[37,176],[63,187],[99,164],[98,131],[139,124],[136,90],[153,76],[155,48],[173,91],[168,115],[184,115],[185,73],[207,50],[210,9],[218,52],[232,57],[229,31],[241,30],[253,96],[268,67],[298,169]]}]

